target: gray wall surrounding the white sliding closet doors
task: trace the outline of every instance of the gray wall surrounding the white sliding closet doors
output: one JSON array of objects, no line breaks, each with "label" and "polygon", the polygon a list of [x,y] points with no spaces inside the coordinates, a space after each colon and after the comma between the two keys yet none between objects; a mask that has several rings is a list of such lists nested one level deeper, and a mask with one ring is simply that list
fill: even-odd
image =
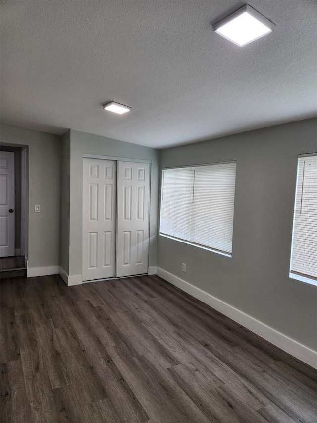
[{"label": "gray wall surrounding the white sliding closet doors", "polygon": [[[83,155],[97,154],[130,159],[147,159],[151,166],[151,211],[149,265],[156,266],[159,200],[159,150],[130,144],[99,135],[70,130],[70,228],[69,260],[62,254],[61,262],[68,267],[68,274],[82,274],[82,219],[83,219]],[[64,214],[64,213],[63,213]],[[67,213],[66,213],[67,214]],[[66,216],[62,216],[64,222]],[[66,268],[64,268],[66,270]]]}]

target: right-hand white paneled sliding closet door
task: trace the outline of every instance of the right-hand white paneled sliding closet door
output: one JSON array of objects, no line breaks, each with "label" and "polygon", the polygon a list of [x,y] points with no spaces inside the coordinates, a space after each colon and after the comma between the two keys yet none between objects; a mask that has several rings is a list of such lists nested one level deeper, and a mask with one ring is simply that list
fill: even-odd
[{"label": "right-hand white paneled sliding closet door", "polygon": [[150,164],[118,162],[116,276],[148,273]]}]

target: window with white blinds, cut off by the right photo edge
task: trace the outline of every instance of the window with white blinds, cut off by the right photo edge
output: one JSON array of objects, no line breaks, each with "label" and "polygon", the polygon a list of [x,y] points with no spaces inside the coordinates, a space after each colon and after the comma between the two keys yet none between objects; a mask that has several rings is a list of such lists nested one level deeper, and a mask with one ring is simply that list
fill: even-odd
[{"label": "window with white blinds, cut off by the right photo edge", "polygon": [[317,285],[317,153],[298,159],[290,277]]}]

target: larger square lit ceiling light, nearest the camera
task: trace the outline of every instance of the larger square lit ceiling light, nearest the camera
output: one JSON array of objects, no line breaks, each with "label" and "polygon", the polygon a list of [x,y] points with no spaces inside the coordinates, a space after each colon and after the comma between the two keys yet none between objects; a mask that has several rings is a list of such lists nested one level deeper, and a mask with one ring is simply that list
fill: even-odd
[{"label": "larger square lit ceiling light, nearest the camera", "polygon": [[246,4],[213,25],[213,30],[237,46],[245,46],[273,31],[275,25]]}]

